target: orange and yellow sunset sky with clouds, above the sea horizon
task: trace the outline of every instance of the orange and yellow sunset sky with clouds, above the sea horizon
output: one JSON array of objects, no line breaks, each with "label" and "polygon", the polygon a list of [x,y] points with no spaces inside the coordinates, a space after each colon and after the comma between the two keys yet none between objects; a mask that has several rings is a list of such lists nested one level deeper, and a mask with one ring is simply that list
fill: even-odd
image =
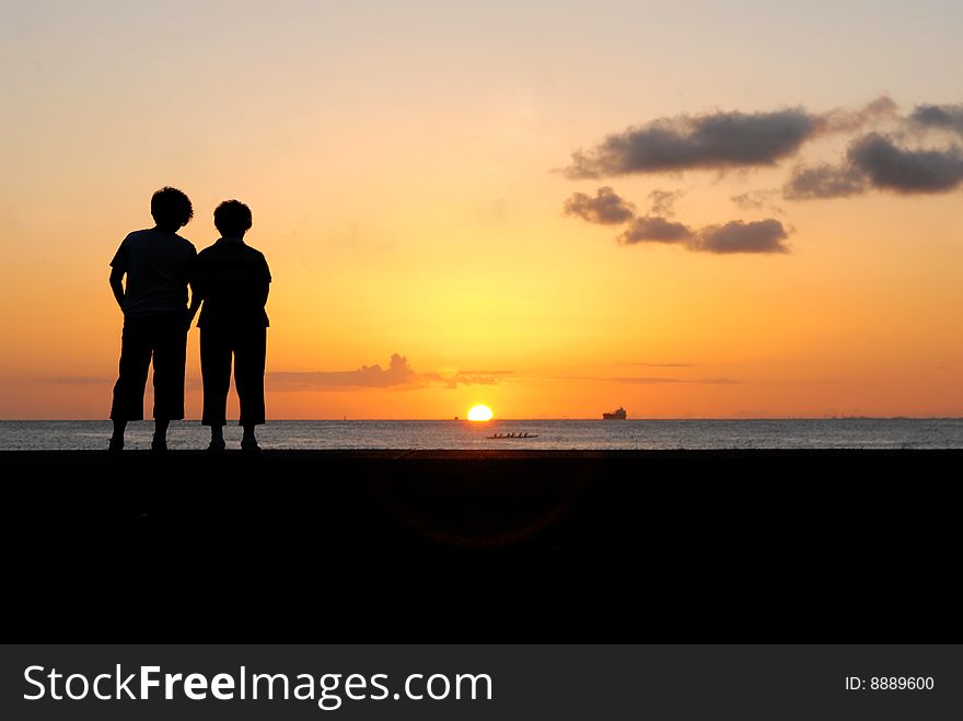
[{"label": "orange and yellow sunset sky with clouds, above the sea horizon", "polygon": [[3,14],[0,418],[107,416],[163,185],[253,210],[269,418],[963,414],[959,7]]}]

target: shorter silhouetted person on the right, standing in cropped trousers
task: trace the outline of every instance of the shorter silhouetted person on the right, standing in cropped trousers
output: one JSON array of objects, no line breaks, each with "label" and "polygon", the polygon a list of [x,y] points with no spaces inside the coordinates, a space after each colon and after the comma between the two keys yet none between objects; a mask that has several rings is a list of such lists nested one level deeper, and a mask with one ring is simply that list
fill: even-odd
[{"label": "shorter silhouetted person on the right, standing in cropped trousers", "polygon": [[197,256],[195,296],[192,306],[204,303],[200,319],[200,372],[204,379],[204,417],[210,426],[208,450],[223,451],[231,358],[234,386],[241,402],[243,451],[258,451],[254,435],[264,423],[264,362],[268,319],[264,306],[270,286],[267,260],[244,243],[251,229],[251,209],[239,200],[225,200],[214,210],[214,225],[221,234]]}]

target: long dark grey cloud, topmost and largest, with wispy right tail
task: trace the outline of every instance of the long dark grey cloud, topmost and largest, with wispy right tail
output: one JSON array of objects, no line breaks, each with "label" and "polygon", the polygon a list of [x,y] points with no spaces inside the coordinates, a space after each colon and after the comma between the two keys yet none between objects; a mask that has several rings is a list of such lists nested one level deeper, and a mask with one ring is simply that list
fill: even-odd
[{"label": "long dark grey cloud, topmost and largest, with wispy right tail", "polygon": [[858,111],[822,115],[792,107],[663,117],[611,135],[591,150],[572,153],[565,173],[570,178],[596,178],[775,165],[796,155],[813,138],[856,131],[895,109],[892,100],[880,97]]}]

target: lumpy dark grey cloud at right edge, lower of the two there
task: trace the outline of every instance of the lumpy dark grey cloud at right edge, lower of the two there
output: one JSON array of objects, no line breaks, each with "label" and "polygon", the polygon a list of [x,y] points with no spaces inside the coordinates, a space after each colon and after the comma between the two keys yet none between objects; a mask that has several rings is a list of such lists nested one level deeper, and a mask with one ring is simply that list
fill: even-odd
[{"label": "lumpy dark grey cloud at right edge, lower of the two there", "polygon": [[948,193],[963,184],[963,151],[903,148],[871,132],[854,141],[839,165],[797,167],[782,189],[790,200],[839,198],[871,188],[901,195]]}]

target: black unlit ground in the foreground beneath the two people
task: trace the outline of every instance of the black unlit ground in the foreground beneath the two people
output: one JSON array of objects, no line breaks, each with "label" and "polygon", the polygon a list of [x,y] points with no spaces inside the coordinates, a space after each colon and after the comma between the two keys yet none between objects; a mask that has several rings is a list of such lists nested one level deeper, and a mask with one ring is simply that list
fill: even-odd
[{"label": "black unlit ground in the foreground beneath the two people", "polygon": [[[0,454],[10,640],[960,641],[960,451]],[[19,637],[19,638],[18,638]]]}]

